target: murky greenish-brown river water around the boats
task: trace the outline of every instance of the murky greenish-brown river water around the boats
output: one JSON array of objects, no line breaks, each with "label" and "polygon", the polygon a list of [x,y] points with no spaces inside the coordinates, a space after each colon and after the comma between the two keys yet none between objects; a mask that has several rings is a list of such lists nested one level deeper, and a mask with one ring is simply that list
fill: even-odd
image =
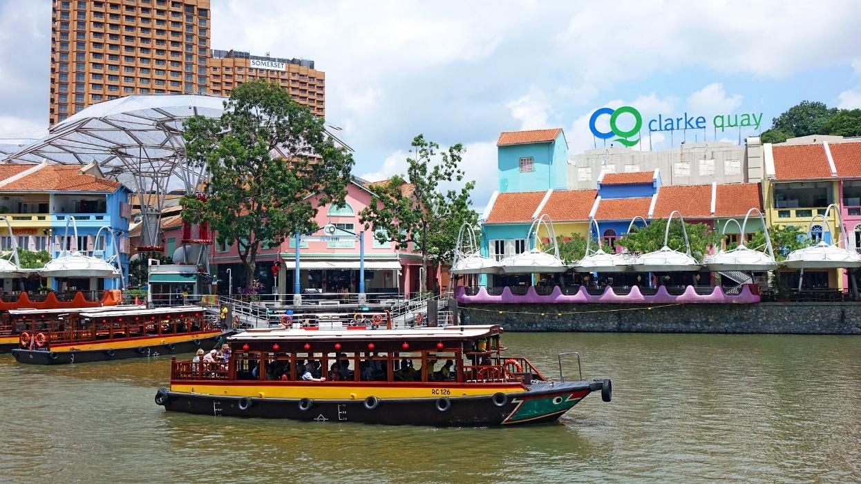
[{"label": "murky greenish-brown river water around the boats", "polygon": [[[0,355],[0,481],[861,481],[861,339],[505,334],[548,376],[611,377],[559,423],[492,429],[165,414],[168,358]],[[567,365],[574,374],[576,365]]]}]

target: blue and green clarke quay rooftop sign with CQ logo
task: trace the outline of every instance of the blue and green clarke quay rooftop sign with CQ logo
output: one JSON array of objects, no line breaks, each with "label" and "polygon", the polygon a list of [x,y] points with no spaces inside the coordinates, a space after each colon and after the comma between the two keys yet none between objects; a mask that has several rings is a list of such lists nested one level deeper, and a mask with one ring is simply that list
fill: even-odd
[{"label": "blue and green clarke quay rooftop sign with CQ logo", "polygon": [[[624,129],[619,126],[619,118],[627,114],[626,118],[633,119],[634,125],[630,129]],[[602,132],[598,130],[595,123],[603,115],[610,116],[610,131]],[[741,114],[715,114],[711,119],[711,126],[716,130],[723,132],[727,128],[734,127],[753,127],[754,130],[759,130],[762,125],[762,113],[741,113]],[[643,117],[635,107],[623,106],[612,109],[610,107],[601,107],[592,113],[589,119],[589,129],[592,130],[592,135],[599,139],[609,139],[616,136],[614,141],[618,141],[629,148],[640,142],[639,133],[643,126]],[[649,132],[661,131],[680,131],[680,130],[701,130],[707,127],[705,116],[689,116],[687,112],[684,116],[672,117],[658,114],[657,118],[650,119],[647,123]],[[636,139],[630,139],[632,137]]]}]

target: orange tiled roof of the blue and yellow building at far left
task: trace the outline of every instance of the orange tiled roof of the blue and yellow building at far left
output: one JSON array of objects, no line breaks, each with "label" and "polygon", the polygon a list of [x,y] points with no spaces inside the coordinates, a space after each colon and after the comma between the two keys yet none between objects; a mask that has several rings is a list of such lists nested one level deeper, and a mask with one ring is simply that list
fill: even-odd
[{"label": "orange tiled roof of the blue and yellow building at far left", "polygon": [[[28,168],[33,168],[29,165]],[[8,176],[6,178],[9,178]],[[0,187],[0,191],[34,190],[45,192],[113,192],[121,184],[117,181],[81,173],[78,165],[46,165],[30,175]]]}]

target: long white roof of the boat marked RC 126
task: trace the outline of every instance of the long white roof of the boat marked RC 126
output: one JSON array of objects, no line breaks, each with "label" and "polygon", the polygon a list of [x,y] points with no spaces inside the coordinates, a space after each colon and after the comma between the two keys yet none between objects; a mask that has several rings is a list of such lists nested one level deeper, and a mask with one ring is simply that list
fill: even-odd
[{"label": "long white roof of the boat marked RC 126", "polygon": [[474,340],[502,333],[499,325],[399,329],[249,329],[229,341],[259,340]]}]

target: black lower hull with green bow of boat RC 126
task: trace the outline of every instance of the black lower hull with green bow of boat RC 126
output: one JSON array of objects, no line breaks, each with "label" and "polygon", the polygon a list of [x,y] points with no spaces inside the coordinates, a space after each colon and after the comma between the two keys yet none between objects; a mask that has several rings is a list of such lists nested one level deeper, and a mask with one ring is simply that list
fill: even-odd
[{"label": "black lower hull with green bow of boat RC 126", "polygon": [[174,392],[156,403],[189,414],[413,426],[505,426],[558,420],[603,382],[536,383],[522,392],[467,397],[311,400]]}]

